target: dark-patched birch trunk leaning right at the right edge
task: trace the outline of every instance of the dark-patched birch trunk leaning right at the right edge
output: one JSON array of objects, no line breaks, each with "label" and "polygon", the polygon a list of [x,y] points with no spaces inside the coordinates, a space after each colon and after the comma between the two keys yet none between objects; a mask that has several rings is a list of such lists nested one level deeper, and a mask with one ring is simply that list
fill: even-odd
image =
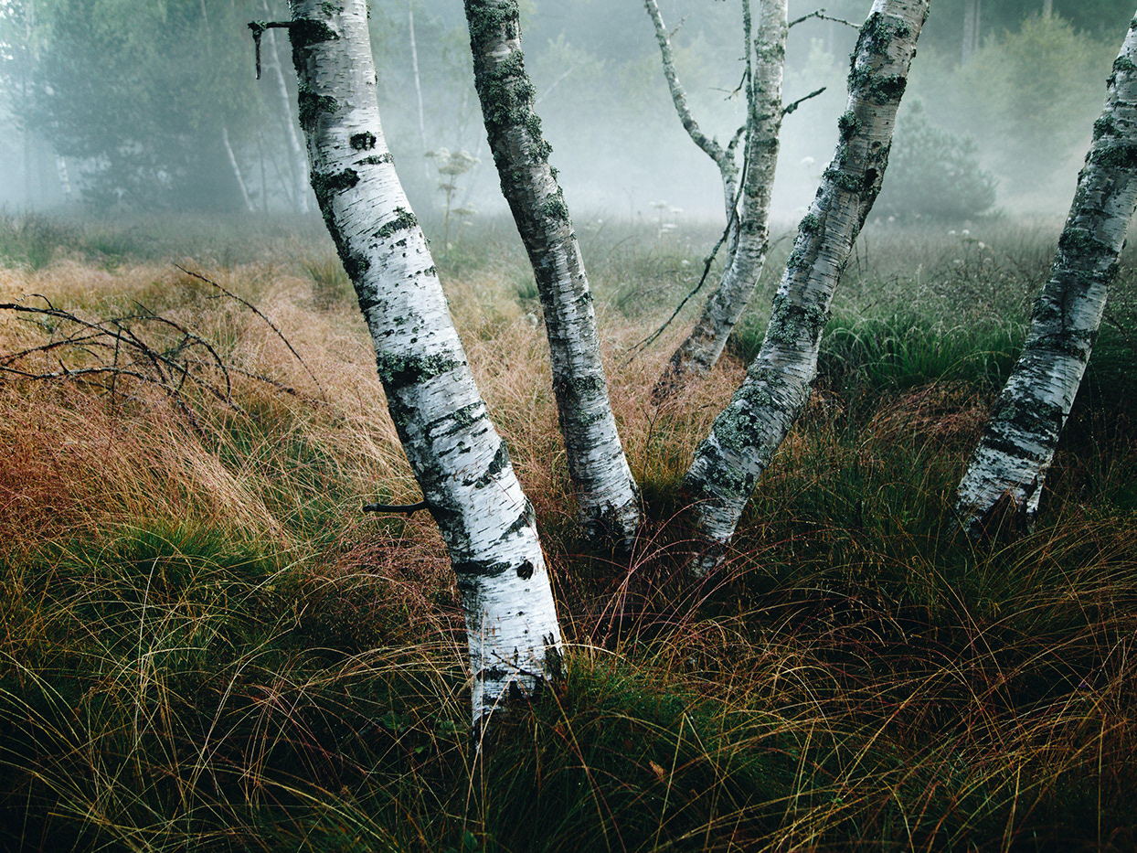
[{"label": "dark-patched birch trunk leaning right at the right edge", "polygon": [[1051,279],[1030,333],[958,490],[960,517],[982,533],[1001,503],[1029,523],[1081,383],[1110,282],[1137,206],[1137,23],[1113,64],[1094,143],[1078,176]]}]

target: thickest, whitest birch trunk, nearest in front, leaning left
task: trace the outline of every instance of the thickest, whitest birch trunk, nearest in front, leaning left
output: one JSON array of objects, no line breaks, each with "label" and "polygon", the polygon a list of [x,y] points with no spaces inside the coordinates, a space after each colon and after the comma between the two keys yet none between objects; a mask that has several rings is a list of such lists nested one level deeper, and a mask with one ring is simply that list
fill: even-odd
[{"label": "thickest, whitest birch trunk, nearest in front, leaning left", "polygon": [[383,140],[367,1],[293,0],[312,188],[355,284],[402,449],[458,575],[480,727],[556,674],[561,632],[533,508],[474,384]]}]

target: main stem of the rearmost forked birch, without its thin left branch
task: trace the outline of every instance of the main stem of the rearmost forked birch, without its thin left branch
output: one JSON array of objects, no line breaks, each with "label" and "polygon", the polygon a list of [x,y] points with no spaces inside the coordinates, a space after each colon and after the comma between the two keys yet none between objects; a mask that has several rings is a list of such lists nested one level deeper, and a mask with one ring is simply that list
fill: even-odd
[{"label": "main stem of the rearmost forked birch, without its thin left branch", "polygon": [[[648,3],[655,0],[647,0]],[[754,80],[747,92],[746,173],[738,243],[729,259],[719,289],[707,299],[703,314],[687,339],[671,356],[656,384],[656,398],[702,375],[719,361],[731,331],[749,305],[758,285],[770,247],[770,196],[778,167],[782,122],[782,69],[789,35],[787,0],[764,0],[755,39]],[[749,49],[749,45],[747,45]]]}]

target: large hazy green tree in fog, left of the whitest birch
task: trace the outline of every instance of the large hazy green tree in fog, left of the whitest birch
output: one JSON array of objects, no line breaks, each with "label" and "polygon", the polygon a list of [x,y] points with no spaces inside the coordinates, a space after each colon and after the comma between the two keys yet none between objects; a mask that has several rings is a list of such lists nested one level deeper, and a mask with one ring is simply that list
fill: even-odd
[{"label": "large hazy green tree in fog, left of the whitest birch", "polygon": [[59,0],[25,119],[85,163],[97,205],[239,207],[259,101],[230,2]]}]

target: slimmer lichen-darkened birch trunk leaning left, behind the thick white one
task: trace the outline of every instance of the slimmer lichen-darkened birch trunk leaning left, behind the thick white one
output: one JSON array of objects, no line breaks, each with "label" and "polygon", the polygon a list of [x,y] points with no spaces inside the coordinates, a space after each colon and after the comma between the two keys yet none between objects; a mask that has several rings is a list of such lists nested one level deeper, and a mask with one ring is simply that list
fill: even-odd
[{"label": "slimmer lichen-darkened birch trunk leaning left, behind the thick white one", "polygon": [[590,537],[629,547],[639,525],[639,489],[608,401],[584,262],[533,111],[517,1],[466,0],[465,6],[490,150],[541,296],[553,390],[581,520]]}]

